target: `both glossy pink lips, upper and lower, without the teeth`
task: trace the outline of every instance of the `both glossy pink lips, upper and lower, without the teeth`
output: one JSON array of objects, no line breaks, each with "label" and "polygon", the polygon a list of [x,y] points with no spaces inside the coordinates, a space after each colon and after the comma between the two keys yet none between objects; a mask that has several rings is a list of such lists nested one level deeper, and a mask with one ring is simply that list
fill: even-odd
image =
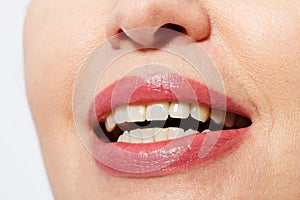
[{"label": "both glossy pink lips, upper and lower, without the teeth", "polygon": [[[220,92],[175,74],[160,74],[128,77],[110,85],[96,96],[90,109],[90,122],[95,125],[95,120],[96,123],[104,121],[107,114],[121,105],[166,101],[198,103],[249,117],[242,106]],[[109,173],[161,176],[223,155],[236,148],[249,129],[214,131],[149,144],[104,143],[94,135],[90,145],[97,165]]]}]

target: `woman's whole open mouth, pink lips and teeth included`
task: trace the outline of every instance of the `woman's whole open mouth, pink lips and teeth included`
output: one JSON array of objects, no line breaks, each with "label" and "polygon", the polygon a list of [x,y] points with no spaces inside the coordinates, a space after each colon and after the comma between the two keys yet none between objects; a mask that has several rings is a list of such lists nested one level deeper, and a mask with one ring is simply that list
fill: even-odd
[{"label": "woman's whole open mouth, pink lips and teeth included", "polygon": [[252,124],[229,97],[170,74],[116,81],[96,96],[90,122],[96,163],[126,177],[167,175],[219,158]]}]

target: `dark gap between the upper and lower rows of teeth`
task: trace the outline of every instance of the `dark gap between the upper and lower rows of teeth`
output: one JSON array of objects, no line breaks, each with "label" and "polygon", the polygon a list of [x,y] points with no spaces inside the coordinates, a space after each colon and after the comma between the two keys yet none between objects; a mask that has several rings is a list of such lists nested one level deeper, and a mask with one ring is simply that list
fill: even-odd
[{"label": "dark gap between the upper and lower rows of teeth", "polygon": [[96,133],[97,137],[103,142],[110,143],[117,142],[119,136],[122,135],[124,131],[130,131],[138,128],[143,129],[178,127],[182,128],[184,131],[187,131],[188,129],[193,129],[201,133],[206,129],[209,129],[211,131],[218,131],[246,128],[249,127],[252,123],[250,119],[247,119],[247,121],[248,123],[244,127],[237,127],[234,125],[233,127],[227,128],[224,126],[224,124],[217,124],[213,120],[200,122],[192,117],[189,117],[187,119],[175,119],[169,116],[168,119],[165,121],[126,122],[122,124],[117,124],[116,128],[111,132],[106,131],[104,122],[99,122],[100,126],[96,126],[96,128],[94,128],[94,132]]}]

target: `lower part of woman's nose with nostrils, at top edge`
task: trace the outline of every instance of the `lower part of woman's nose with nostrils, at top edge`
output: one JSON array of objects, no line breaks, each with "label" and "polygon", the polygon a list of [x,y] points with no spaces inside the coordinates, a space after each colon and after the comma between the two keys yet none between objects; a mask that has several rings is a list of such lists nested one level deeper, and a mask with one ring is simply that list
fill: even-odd
[{"label": "lower part of woman's nose with nostrils, at top edge", "polygon": [[[209,15],[198,0],[119,0],[108,20],[106,35],[111,38],[123,32],[135,43],[148,46],[156,42],[162,28],[184,33],[198,42],[210,34]],[[140,31],[133,31],[137,29]],[[111,40],[116,46],[118,42]]]}]

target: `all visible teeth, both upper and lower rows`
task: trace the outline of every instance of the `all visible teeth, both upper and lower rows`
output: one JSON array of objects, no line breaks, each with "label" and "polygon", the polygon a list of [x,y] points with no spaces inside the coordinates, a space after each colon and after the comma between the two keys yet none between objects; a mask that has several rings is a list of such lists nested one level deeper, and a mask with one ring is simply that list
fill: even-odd
[{"label": "all visible teeth, both upper and lower rows", "polygon": [[[251,124],[245,117],[234,113],[221,110],[210,109],[206,106],[188,104],[181,102],[163,102],[150,105],[131,105],[120,106],[110,113],[105,120],[105,128],[107,132],[112,132],[117,124],[124,122],[144,122],[166,120],[168,116],[172,118],[186,119],[191,115],[194,119],[206,122],[209,117],[217,124],[224,123],[226,127],[246,127]],[[123,125],[122,125],[123,126]],[[128,127],[127,127],[128,128]],[[130,129],[130,128],[129,128]],[[211,130],[206,129],[202,133],[208,133]],[[131,131],[125,131],[118,138],[118,142],[127,143],[152,143],[165,140],[172,140],[188,135],[198,134],[199,131],[189,129],[184,132],[183,129],[177,127],[169,128],[143,128]]]}]

